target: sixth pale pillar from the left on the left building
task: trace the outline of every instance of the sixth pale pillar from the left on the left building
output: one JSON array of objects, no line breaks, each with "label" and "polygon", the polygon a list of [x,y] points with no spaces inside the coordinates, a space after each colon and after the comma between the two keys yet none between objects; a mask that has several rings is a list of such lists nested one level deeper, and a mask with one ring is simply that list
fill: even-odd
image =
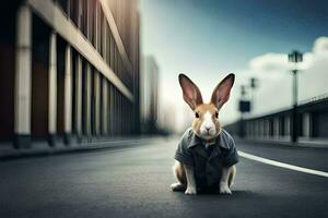
[{"label": "sixth pale pillar from the left on the left building", "polygon": [[101,76],[99,72],[94,72],[94,116],[95,116],[95,135],[101,134]]}]

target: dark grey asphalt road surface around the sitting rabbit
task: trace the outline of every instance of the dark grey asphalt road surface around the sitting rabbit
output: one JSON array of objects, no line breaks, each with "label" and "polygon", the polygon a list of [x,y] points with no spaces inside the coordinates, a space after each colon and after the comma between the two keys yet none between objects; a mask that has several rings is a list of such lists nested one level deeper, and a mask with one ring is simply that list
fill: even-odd
[{"label": "dark grey asphalt road surface around the sitting rabbit", "polygon": [[[328,178],[241,158],[233,195],[171,192],[177,138],[0,162],[0,217],[328,217]],[[328,149],[237,144],[328,171]]]}]

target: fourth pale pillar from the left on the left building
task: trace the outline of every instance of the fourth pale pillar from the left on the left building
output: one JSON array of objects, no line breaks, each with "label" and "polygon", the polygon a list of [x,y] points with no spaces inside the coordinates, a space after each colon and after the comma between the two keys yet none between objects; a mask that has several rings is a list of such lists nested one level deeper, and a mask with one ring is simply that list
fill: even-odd
[{"label": "fourth pale pillar from the left on the left building", "polygon": [[75,60],[75,130],[78,141],[82,137],[82,60],[80,55],[77,56]]}]

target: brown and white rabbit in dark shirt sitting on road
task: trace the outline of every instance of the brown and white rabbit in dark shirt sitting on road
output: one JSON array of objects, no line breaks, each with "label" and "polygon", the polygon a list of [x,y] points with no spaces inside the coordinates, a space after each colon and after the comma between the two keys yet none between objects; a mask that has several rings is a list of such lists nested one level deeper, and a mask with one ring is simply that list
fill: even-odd
[{"label": "brown and white rabbit in dark shirt sitting on road", "polygon": [[[171,189],[185,191],[185,194],[189,195],[197,194],[197,179],[203,177],[203,171],[207,171],[211,172],[211,175],[204,175],[208,183],[218,184],[220,194],[232,194],[231,186],[236,175],[235,164],[238,162],[238,155],[232,136],[221,128],[219,111],[229,100],[235,75],[229,74],[218,84],[209,104],[203,104],[199,88],[188,76],[179,74],[178,80],[184,100],[195,112],[195,120],[176,150],[173,172],[177,182],[173,183]],[[210,146],[213,146],[213,150],[210,156],[206,156],[204,150]],[[220,150],[224,150],[225,155]]]}]

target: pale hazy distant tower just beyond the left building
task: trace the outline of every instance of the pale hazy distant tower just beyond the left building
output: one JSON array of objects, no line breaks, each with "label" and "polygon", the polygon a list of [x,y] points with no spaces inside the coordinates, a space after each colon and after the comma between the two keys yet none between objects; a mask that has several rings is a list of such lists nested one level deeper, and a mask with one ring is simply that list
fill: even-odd
[{"label": "pale hazy distant tower just beyond the left building", "polygon": [[143,60],[141,87],[142,131],[155,133],[159,119],[159,66],[151,56]]}]

